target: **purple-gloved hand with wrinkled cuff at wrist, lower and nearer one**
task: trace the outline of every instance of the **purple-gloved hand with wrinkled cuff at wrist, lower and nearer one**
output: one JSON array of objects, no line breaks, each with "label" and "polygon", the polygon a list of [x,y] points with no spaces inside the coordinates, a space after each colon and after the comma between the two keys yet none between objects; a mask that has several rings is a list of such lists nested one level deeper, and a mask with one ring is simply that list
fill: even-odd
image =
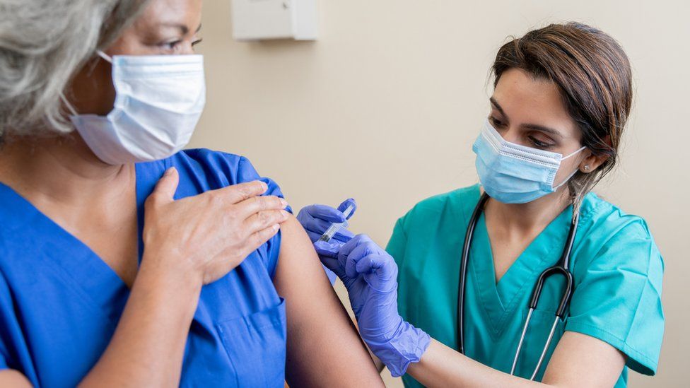
[{"label": "purple-gloved hand with wrinkled cuff at wrist, lower and nearer one", "polygon": [[[315,246],[318,249],[317,243]],[[346,242],[337,256],[325,251],[322,263],[334,271],[347,288],[362,339],[394,377],[416,363],[431,339],[405,322],[397,310],[397,265],[367,235]]]}]

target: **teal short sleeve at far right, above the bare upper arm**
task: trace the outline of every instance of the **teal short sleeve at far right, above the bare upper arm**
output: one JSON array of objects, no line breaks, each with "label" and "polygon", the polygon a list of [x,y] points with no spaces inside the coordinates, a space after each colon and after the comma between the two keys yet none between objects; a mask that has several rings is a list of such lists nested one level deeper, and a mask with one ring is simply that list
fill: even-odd
[{"label": "teal short sleeve at far right, above the bare upper arm", "polygon": [[664,264],[644,221],[624,225],[583,268],[566,331],[607,342],[627,356],[628,368],[654,375],[664,334]]}]

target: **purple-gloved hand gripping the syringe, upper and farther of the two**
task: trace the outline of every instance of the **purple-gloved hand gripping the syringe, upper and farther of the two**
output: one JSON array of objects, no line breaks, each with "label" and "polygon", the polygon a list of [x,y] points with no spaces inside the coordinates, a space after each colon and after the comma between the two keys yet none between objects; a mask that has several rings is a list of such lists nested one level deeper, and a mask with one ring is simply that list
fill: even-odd
[{"label": "purple-gloved hand gripping the syringe, upper and farther of the two", "polygon": [[[353,206],[353,211],[348,218],[345,218],[343,212],[348,206]],[[326,205],[310,205],[305,206],[297,215],[297,221],[302,224],[302,227],[309,235],[312,243],[317,242],[321,236],[326,232],[332,223],[347,222],[357,210],[357,203],[354,199],[346,199],[338,208],[332,208]],[[347,224],[336,233],[329,242],[319,242],[322,252],[328,252],[329,255],[335,256],[338,254],[340,247],[348,242],[354,235],[346,229]],[[317,251],[318,252],[318,251]],[[321,254],[319,254],[322,259]],[[324,266],[324,271],[328,276],[331,284],[335,283],[336,275]]]}]

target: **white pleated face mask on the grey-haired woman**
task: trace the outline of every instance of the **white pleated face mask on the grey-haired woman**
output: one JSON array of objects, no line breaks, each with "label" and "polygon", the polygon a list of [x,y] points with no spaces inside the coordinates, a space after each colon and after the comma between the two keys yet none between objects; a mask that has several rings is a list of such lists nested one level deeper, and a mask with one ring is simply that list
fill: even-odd
[{"label": "white pleated face mask on the grey-haired woman", "polygon": [[74,127],[111,165],[168,158],[189,143],[206,103],[201,55],[100,57],[112,64],[115,106],[107,116],[77,114]]}]

